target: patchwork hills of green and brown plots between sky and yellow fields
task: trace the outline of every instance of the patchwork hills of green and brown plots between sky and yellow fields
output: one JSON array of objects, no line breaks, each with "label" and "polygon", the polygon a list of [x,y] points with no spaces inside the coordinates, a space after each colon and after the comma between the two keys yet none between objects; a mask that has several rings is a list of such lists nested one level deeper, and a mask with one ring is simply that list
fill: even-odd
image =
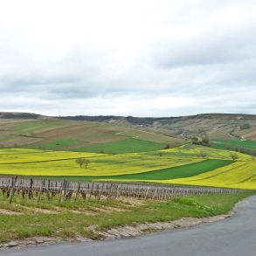
[{"label": "patchwork hills of green and brown plots between sky and yellow fields", "polygon": [[10,148],[132,153],[163,149],[168,142],[176,146],[204,135],[216,148],[232,145],[252,149],[250,141],[241,140],[256,139],[256,115],[141,118],[0,113],[0,146]]}]

